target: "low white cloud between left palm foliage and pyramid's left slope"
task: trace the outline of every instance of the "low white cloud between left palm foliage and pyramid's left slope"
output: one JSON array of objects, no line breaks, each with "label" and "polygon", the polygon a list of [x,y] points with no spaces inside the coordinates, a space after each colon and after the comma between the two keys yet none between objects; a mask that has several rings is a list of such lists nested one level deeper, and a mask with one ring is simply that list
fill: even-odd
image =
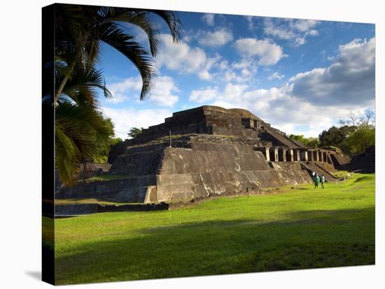
[{"label": "low white cloud between left palm foliage and pyramid's left slope", "polygon": [[106,108],[102,111],[107,117],[111,117],[115,126],[116,136],[127,138],[130,128],[148,128],[155,124],[165,121],[166,117],[171,117],[172,112],[164,109],[136,110],[134,108]]}]

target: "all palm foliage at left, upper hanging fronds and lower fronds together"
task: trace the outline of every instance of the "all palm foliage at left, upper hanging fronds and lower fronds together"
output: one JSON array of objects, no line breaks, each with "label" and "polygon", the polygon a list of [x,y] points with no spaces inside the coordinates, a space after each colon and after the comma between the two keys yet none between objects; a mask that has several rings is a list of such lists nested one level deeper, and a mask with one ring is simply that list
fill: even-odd
[{"label": "all palm foliage at left, upper hanging fronds and lower fronds together", "polygon": [[[153,88],[152,57],[160,48],[160,31],[152,14],[165,20],[174,41],[179,41],[181,22],[172,11],[56,4],[55,64],[46,65],[55,66],[56,87],[44,94],[43,105],[55,105],[55,158],[63,184],[74,184],[77,164],[86,168],[97,154],[97,144],[113,136],[97,101],[98,89],[111,97],[102,72],[94,68],[101,43],[116,48],[138,68],[141,100]],[[150,52],[129,34],[127,23],[146,32]]]}]

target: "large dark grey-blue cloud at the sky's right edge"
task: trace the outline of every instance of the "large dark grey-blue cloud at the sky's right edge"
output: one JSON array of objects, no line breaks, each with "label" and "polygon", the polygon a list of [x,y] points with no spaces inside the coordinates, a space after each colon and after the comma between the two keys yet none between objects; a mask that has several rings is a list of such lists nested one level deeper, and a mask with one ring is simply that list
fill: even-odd
[{"label": "large dark grey-blue cloud at the sky's right edge", "polygon": [[365,105],[374,101],[375,40],[340,45],[326,68],[291,77],[293,95],[314,105]]}]

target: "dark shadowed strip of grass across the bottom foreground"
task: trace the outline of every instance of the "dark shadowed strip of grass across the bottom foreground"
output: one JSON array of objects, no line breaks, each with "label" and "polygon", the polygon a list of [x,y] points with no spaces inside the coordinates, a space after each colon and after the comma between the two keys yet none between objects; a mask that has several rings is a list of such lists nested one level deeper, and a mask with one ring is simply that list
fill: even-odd
[{"label": "dark shadowed strip of grass across the bottom foreground", "polygon": [[[117,229],[118,230],[118,229]],[[57,252],[57,283],[374,264],[374,207],[120,232]]]}]

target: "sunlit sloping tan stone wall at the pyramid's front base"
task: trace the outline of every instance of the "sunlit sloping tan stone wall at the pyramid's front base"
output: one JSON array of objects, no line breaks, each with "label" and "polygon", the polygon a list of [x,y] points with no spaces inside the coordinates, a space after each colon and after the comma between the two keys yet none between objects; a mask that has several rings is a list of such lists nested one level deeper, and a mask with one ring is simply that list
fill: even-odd
[{"label": "sunlit sloping tan stone wall at the pyramid's front base", "polygon": [[157,199],[190,200],[307,182],[311,177],[300,163],[274,167],[247,145],[196,143],[192,149],[165,149],[157,175]]}]

